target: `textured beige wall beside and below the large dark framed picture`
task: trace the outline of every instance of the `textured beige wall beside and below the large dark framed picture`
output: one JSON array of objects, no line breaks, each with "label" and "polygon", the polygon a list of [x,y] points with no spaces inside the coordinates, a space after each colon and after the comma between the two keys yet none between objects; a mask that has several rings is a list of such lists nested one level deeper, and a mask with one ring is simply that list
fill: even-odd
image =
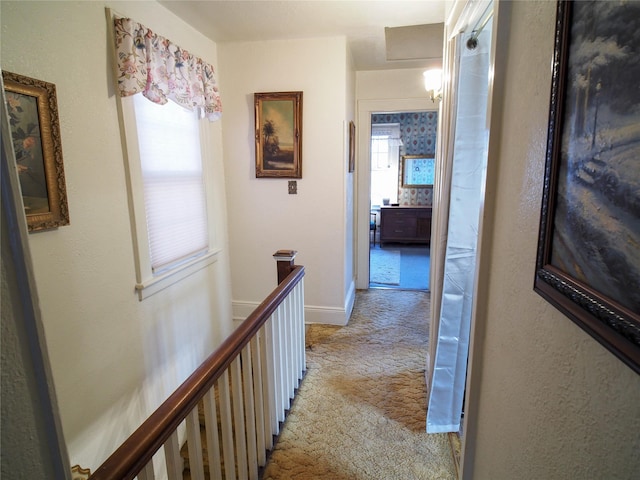
[{"label": "textured beige wall beside and below the large dark framed picture", "polygon": [[[640,376],[533,291],[555,2],[498,31],[464,478],[640,475]],[[502,66],[500,66],[502,65]]]}]

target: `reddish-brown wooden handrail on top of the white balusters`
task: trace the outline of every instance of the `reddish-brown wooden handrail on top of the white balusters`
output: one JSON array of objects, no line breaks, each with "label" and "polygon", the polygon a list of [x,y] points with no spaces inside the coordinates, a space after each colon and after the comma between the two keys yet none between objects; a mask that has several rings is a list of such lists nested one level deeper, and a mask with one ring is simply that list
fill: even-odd
[{"label": "reddish-brown wooden handrail on top of the white balusters", "polygon": [[246,320],[89,477],[90,480],[135,478],[303,276],[304,267],[296,265]]}]

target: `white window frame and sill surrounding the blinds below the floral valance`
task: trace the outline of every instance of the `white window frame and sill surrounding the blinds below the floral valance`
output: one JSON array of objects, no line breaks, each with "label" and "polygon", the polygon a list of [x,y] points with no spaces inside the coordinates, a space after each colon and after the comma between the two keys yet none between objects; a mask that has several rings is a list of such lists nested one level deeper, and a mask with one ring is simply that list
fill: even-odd
[{"label": "white window frame and sill surrounding the blinds below the floral valance", "polygon": [[[137,94],[141,95],[141,94]],[[135,289],[139,300],[179,282],[189,275],[217,261],[221,248],[218,245],[212,212],[214,211],[213,195],[210,192],[211,158],[210,125],[208,120],[200,120],[200,151],[202,157],[202,176],[205,185],[205,202],[207,208],[207,224],[209,232],[209,248],[206,252],[174,265],[161,273],[153,273],[147,231],[142,167],[133,97],[119,98],[121,113],[121,130],[124,139],[123,150],[127,171],[127,189],[129,194],[129,211],[133,235],[133,250],[136,268]],[[195,113],[194,113],[195,115]]]}]

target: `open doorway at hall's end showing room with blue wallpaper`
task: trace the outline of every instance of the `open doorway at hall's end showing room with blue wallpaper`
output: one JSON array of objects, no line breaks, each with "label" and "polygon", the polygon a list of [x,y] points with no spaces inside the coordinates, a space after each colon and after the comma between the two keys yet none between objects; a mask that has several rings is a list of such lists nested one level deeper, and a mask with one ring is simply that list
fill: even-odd
[{"label": "open doorway at hall's end showing room with blue wallpaper", "polygon": [[[435,155],[438,115],[419,110],[374,112],[370,121],[369,286],[426,291],[430,228],[422,228],[424,234],[418,237],[417,216],[422,223],[430,221],[433,185],[406,185],[402,166],[405,156]],[[410,238],[390,236],[391,222],[394,230],[406,229]]]}]

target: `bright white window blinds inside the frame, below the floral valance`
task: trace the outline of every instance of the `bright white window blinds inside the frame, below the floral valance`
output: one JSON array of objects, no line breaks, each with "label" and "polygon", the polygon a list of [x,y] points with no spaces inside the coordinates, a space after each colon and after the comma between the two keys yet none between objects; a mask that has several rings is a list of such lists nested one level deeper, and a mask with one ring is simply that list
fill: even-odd
[{"label": "bright white window blinds inside the frame, below the floral valance", "polygon": [[174,102],[133,99],[151,269],[158,274],[209,248],[199,120]]}]

